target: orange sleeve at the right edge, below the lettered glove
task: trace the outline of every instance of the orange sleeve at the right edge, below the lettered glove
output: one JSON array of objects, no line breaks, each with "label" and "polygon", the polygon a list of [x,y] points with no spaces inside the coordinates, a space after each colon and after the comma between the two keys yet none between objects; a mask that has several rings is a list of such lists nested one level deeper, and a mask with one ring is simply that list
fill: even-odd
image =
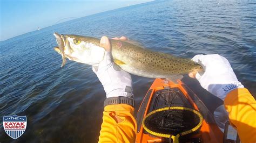
[{"label": "orange sleeve at the right edge, below the lettered glove", "polygon": [[234,89],[227,94],[224,105],[240,140],[256,142],[256,102],[250,92],[245,88]]}]

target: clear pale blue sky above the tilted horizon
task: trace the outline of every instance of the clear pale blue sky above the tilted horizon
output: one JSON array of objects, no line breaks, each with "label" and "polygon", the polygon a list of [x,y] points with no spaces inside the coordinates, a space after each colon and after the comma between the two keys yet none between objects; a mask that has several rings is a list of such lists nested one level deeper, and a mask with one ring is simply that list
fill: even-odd
[{"label": "clear pale blue sky above the tilted horizon", "polygon": [[55,25],[64,18],[80,18],[150,1],[0,0],[0,41]]}]

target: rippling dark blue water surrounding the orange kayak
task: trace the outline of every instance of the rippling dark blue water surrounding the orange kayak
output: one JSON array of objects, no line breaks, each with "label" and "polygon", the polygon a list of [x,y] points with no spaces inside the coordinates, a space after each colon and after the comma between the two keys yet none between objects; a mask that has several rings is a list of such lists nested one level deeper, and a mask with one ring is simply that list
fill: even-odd
[{"label": "rippling dark blue water surrounding the orange kayak", "polygon": [[[255,1],[150,2],[43,28],[1,42],[0,142],[97,142],[105,94],[91,66],[53,51],[53,32],[92,37],[126,35],[144,47],[185,58],[220,54],[256,95]],[[58,19],[56,19],[58,20]],[[221,70],[221,69],[220,69]],[[132,76],[136,109],[153,79]],[[183,80],[213,111],[221,101]],[[214,102],[213,102],[214,101]],[[3,116],[26,116],[22,137],[5,134]]]}]

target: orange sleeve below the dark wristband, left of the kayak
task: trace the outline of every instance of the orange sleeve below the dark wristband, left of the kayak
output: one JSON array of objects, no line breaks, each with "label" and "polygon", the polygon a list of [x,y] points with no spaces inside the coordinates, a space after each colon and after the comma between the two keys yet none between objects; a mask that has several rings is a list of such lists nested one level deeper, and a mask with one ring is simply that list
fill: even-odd
[{"label": "orange sleeve below the dark wristband, left of the kayak", "polygon": [[135,142],[134,108],[127,104],[107,105],[103,112],[99,142]]}]

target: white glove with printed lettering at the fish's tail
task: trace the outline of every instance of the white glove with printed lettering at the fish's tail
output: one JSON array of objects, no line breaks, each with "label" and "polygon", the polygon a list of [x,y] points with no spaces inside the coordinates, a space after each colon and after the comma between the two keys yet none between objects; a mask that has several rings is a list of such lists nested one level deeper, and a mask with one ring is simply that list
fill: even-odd
[{"label": "white glove with printed lettering at the fish's tail", "polygon": [[230,63],[223,56],[196,55],[192,60],[205,69],[203,73],[196,74],[201,86],[220,99],[224,100],[233,89],[244,88],[237,80]]}]

